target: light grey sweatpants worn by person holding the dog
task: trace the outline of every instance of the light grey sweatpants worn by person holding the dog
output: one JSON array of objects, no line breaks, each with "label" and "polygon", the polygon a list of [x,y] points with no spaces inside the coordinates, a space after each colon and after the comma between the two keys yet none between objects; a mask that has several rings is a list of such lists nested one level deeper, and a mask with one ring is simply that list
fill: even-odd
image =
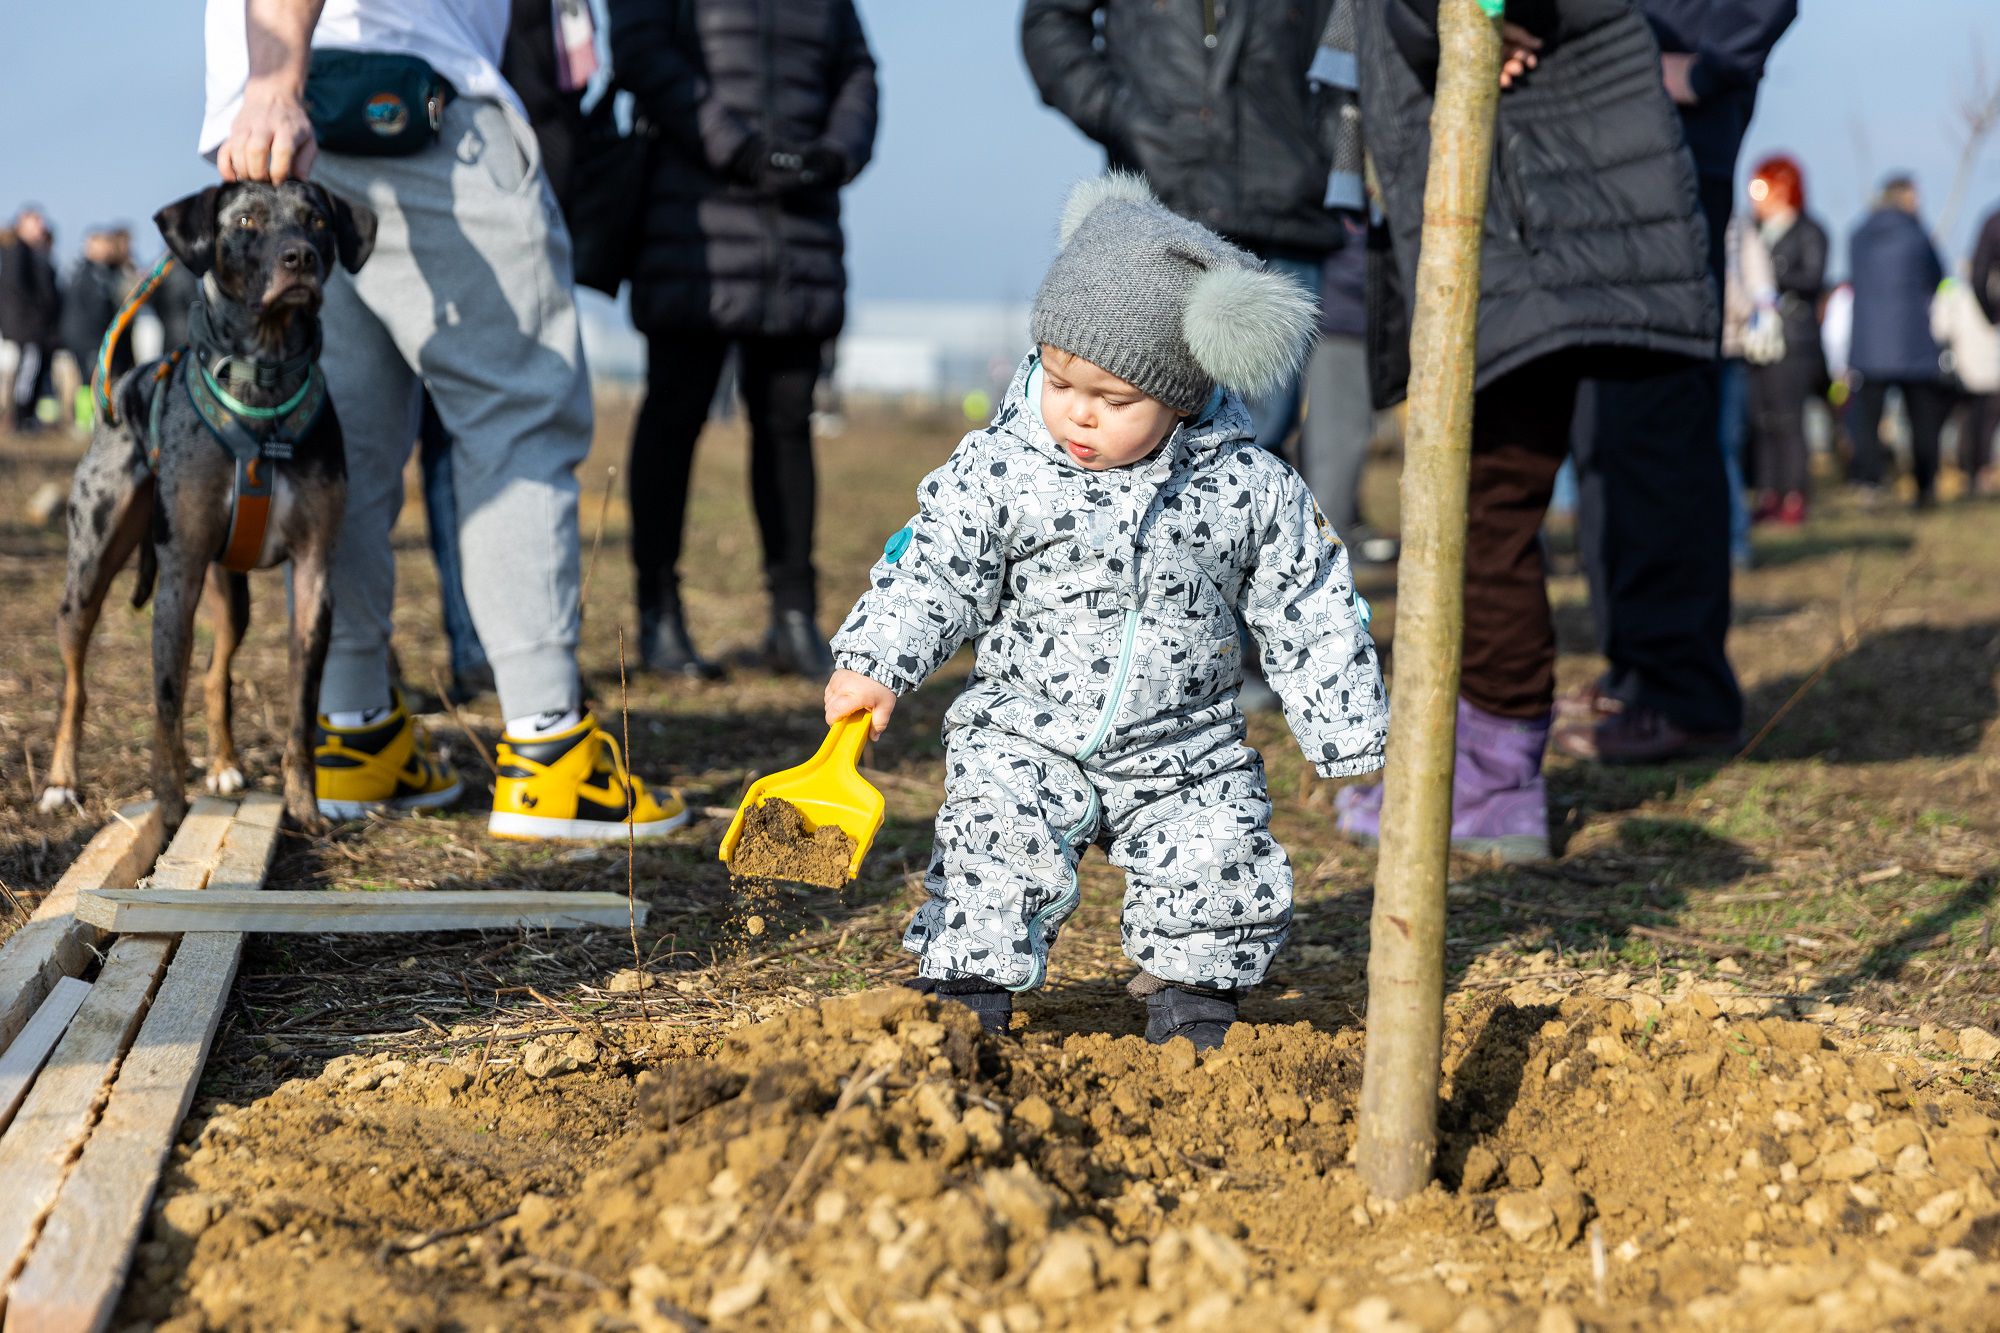
[{"label": "light grey sweatpants worn by person holding the dog", "polygon": [[328,282],[320,316],[320,364],[348,452],[320,709],[390,699],[390,528],[424,386],[452,436],[466,602],[500,709],[572,709],[576,464],[590,450],[590,376],[570,296],[570,236],[534,132],[500,102],[460,98],[430,148],[404,158],[322,154],[312,174],[378,218],[374,254],[358,274]]}]

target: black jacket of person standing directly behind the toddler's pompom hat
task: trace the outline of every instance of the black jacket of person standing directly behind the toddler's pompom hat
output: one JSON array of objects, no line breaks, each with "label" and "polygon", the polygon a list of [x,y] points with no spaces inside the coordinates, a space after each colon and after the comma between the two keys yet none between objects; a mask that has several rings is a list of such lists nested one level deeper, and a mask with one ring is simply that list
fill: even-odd
[{"label": "black jacket of person standing directly behind the toddler's pompom hat", "polygon": [[1320,206],[1328,160],[1306,90],[1328,8],[1028,0],[1020,44],[1042,100],[1168,208],[1252,250],[1316,260],[1344,238]]}]

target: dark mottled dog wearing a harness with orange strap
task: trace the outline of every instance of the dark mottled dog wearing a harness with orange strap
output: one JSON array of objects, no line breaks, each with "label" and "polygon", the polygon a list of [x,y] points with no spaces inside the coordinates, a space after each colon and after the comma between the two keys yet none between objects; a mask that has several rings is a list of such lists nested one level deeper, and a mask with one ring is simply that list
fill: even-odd
[{"label": "dark mottled dog wearing a harness with orange strap", "polygon": [[190,346],[120,376],[110,388],[114,412],[96,422],[70,482],[70,556],[56,618],[62,717],[42,809],[76,801],[90,632],[134,550],[132,604],[154,598],[154,799],[170,827],[186,815],[182,699],[204,588],[216,634],[206,787],[240,791],[230,660],[250,626],[244,570],[290,560],[284,811],[300,829],[322,831],[312,741],[348,474],[318,370],[320,300],[336,262],[356,272],[368,258],[376,218],[318,184],[288,180],[210,186],[168,204],[154,222],[202,292],[190,310]]}]

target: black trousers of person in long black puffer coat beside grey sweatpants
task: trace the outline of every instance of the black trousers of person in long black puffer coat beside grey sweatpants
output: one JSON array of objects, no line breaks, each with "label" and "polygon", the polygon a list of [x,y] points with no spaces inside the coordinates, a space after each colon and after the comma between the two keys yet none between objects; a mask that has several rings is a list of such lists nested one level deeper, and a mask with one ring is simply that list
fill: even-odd
[{"label": "black trousers of person in long black puffer coat beside grey sweatpants", "polygon": [[[628,470],[638,604],[680,606],[680,546],[688,520],[694,442],[728,356],[722,334],[648,334],[646,402],[632,428]],[[818,610],[812,568],[816,476],[812,390],[822,338],[738,338],[750,414],[750,504],[764,538],[764,582],[774,610]]]}]

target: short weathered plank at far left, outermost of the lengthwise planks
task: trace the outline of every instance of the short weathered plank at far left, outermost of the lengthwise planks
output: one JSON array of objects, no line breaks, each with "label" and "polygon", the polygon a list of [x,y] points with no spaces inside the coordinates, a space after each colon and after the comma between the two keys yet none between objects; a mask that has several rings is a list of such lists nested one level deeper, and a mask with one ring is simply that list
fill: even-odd
[{"label": "short weathered plank at far left, outermost of the lengthwise planks", "polygon": [[84,889],[130,889],[160,855],[160,807],[128,805],[98,829],[34,917],[0,943],[0,1051],[34,1015],[60,977],[76,977],[104,943],[102,931],[76,921]]}]

